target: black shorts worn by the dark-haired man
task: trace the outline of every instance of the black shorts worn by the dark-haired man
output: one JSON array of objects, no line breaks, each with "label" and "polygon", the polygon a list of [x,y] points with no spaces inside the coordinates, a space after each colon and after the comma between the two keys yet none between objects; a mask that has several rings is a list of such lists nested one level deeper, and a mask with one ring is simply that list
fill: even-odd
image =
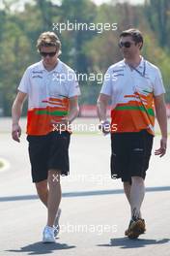
[{"label": "black shorts worn by the dark-haired man", "polygon": [[131,183],[131,176],[145,179],[154,136],[146,130],[111,134],[111,176]]}]

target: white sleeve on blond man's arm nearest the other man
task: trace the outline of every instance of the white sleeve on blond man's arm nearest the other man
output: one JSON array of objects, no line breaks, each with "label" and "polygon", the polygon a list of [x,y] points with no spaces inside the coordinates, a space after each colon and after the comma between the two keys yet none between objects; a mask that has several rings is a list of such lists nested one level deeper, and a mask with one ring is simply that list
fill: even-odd
[{"label": "white sleeve on blond man's arm nearest the other man", "polygon": [[79,84],[74,72],[71,72],[71,76],[69,76],[70,90],[69,90],[69,98],[74,96],[79,96],[81,94]]}]

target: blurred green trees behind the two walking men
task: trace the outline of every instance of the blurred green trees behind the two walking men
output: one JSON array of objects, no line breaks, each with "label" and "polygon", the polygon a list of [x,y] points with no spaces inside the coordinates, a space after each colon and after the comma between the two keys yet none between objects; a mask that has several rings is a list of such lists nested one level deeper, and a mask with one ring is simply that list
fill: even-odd
[{"label": "blurred green trees behind the two walking men", "polygon": [[[144,35],[142,55],[157,65],[170,102],[170,1],[146,0],[143,5],[110,1],[96,5],[90,0],[32,0],[20,10],[17,0],[1,1],[0,10],[0,109],[11,115],[19,80],[27,66],[40,60],[36,42],[43,31],[53,31],[53,23],[117,23],[116,31],[64,31],[61,60],[76,73],[104,74],[109,65],[122,59],[119,34],[129,27]],[[101,83],[79,81],[80,104],[96,104]],[[24,113],[26,108],[24,109]]]}]

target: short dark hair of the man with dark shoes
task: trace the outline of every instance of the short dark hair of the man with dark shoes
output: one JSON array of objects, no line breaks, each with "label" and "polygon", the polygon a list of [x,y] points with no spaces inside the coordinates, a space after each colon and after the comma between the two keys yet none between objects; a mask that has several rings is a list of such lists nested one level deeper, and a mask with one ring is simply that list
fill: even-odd
[{"label": "short dark hair of the man with dark shoes", "polygon": [[[141,48],[143,47],[143,36],[142,33],[140,32],[140,30],[136,29],[136,28],[129,28],[128,30],[124,30],[121,34],[120,34],[120,38],[121,37],[128,37],[130,36],[132,38],[132,40],[137,44],[137,43],[142,43]],[[140,48],[140,49],[141,49]]]}]

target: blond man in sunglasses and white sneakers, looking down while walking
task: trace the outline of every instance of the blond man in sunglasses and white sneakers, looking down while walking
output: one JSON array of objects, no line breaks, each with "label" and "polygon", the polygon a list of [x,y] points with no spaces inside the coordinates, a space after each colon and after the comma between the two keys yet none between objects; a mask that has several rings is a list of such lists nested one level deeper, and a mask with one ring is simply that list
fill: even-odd
[{"label": "blond man in sunglasses and white sneakers, looking down while walking", "polygon": [[37,43],[42,60],[27,68],[18,86],[12,115],[14,141],[20,141],[19,118],[28,97],[27,141],[38,195],[47,208],[42,241],[55,242],[59,232],[60,176],[68,176],[69,125],[78,114],[80,94],[75,73],[59,58],[61,42],[53,32],[41,34]]}]

